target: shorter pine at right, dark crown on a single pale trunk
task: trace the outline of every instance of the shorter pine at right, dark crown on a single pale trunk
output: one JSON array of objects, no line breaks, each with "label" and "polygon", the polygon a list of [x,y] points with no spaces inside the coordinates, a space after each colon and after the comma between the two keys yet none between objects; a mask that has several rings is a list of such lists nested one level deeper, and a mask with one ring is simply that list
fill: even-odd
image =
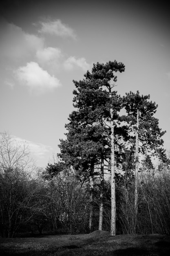
[{"label": "shorter pine at right, dark crown on a single pale trunk", "polygon": [[166,160],[165,150],[163,150],[163,139],[161,138],[166,131],[159,128],[159,120],[154,117],[157,110],[155,102],[149,101],[150,95],[140,95],[129,92],[123,98],[124,108],[127,116],[124,120],[129,126],[131,139],[135,143],[135,191],[134,191],[134,232],[136,232],[137,211],[138,211],[138,169],[139,152],[157,155]]}]

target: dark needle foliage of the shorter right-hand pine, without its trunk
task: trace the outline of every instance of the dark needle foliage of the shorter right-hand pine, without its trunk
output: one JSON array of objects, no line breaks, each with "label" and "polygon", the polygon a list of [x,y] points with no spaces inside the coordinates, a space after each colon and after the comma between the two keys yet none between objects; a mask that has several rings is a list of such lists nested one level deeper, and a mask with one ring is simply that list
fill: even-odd
[{"label": "dark needle foliage of the shorter right-hand pine, without its trunk", "polygon": [[139,150],[146,154],[157,155],[162,161],[167,162],[165,150],[163,150],[163,139],[161,138],[166,131],[159,128],[159,120],[154,117],[158,105],[149,101],[150,95],[140,95],[129,92],[123,97],[124,108],[127,115],[124,121],[128,123],[131,140],[135,139],[137,110],[139,110]]}]

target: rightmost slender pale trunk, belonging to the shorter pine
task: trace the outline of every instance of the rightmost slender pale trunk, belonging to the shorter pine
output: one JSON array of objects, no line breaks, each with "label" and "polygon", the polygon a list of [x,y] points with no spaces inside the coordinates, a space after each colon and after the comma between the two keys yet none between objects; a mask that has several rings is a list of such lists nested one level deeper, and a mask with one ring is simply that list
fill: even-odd
[{"label": "rightmost slender pale trunk, belonging to the shorter pine", "polygon": [[139,109],[137,109],[137,126],[136,126],[136,146],[135,146],[135,220],[134,220],[134,232],[136,232],[137,225],[137,211],[138,211],[138,168],[139,168],[139,157],[138,157],[138,147],[139,147]]}]

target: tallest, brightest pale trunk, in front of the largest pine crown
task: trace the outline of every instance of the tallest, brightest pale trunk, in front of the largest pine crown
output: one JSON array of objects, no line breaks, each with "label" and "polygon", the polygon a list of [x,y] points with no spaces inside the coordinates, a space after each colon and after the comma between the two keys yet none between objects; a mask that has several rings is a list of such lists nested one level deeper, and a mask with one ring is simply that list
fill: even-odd
[{"label": "tallest, brightest pale trunk, in front of the largest pine crown", "polygon": [[114,123],[113,123],[113,108],[111,106],[111,88],[109,88],[110,97],[110,128],[111,128],[111,152],[110,152],[110,169],[111,169],[111,223],[110,235],[116,235],[116,191],[115,191],[115,141],[114,141]]}]

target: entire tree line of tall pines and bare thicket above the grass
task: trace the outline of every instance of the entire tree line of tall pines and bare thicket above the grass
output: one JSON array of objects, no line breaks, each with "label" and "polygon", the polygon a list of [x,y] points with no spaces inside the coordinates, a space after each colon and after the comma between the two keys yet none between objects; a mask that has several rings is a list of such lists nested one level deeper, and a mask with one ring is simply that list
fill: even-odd
[{"label": "entire tree line of tall pines and bare thicket above the grass", "polygon": [[[150,101],[150,95],[137,91],[121,97],[114,90],[115,74],[124,70],[124,64],[117,61],[96,63],[83,80],[73,81],[75,110],[65,126],[66,139],[60,140],[58,160],[48,164],[36,179],[21,179],[21,185],[15,173],[25,177],[22,164],[3,165],[12,161],[9,154],[4,161],[7,151],[1,150],[2,195],[6,191],[0,200],[3,236],[15,234],[24,225],[28,230],[32,225],[39,232],[70,234],[96,229],[109,230],[112,236],[169,234],[169,158],[162,139],[165,131],[154,117],[158,106]],[[157,166],[152,164],[153,157],[159,159]],[[17,177],[17,186],[9,182],[8,173],[10,178]],[[24,194],[22,189],[27,192]],[[15,206],[12,201],[16,201]]]}]

